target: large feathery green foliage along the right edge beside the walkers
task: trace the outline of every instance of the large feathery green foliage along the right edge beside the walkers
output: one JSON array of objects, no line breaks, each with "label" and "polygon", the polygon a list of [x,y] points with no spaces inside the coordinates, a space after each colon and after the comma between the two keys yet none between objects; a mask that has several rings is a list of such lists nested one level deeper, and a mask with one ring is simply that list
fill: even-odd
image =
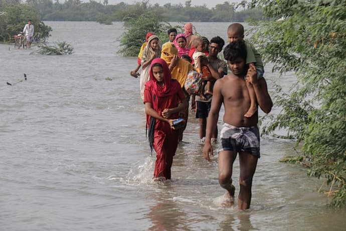
[{"label": "large feathery green foliage along the right edge beside the walkers", "polygon": [[[346,204],[346,2],[252,1],[266,17],[254,43],[280,76],[294,72],[288,93],[276,86],[277,116],[267,116],[266,134],[287,129],[301,143],[309,175],[337,187],[332,206]],[[260,29],[259,29],[260,28]]]}]

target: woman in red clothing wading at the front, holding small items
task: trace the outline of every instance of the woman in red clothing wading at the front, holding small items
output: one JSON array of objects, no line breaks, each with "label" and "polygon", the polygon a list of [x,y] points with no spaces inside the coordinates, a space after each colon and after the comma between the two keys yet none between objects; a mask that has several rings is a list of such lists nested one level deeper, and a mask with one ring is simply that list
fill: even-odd
[{"label": "woman in red clothing wading at the front, holding small items", "polygon": [[178,146],[177,131],[173,122],[179,111],[188,106],[179,82],[171,79],[168,65],[155,58],[150,65],[150,80],[144,88],[146,124],[151,150],[156,152],[154,179],[170,179],[170,168]]}]

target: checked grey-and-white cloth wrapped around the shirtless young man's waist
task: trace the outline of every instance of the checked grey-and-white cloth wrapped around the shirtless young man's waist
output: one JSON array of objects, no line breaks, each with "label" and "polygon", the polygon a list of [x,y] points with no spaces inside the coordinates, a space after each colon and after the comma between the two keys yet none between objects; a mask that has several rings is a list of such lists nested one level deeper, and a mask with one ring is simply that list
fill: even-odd
[{"label": "checked grey-and-white cloth wrapped around the shirtless young man's waist", "polygon": [[224,123],[220,132],[220,151],[248,152],[260,158],[260,138],[257,126],[235,127]]}]

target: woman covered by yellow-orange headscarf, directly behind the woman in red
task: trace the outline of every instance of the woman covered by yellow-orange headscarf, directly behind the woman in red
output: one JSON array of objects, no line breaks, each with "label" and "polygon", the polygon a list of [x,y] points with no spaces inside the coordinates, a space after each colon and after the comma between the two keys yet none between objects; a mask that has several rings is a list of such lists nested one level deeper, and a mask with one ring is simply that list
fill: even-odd
[{"label": "woman covered by yellow-orange headscarf, directly behind the woman in red", "polygon": [[[167,63],[172,79],[176,79],[180,83],[183,91],[185,92],[186,99],[189,102],[190,95],[186,93],[184,83],[189,71],[193,70],[194,66],[188,61],[178,57],[178,49],[174,43],[165,43],[162,46],[161,59]],[[179,117],[188,122],[189,107],[179,112]],[[184,129],[182,129],[181,133],[179,134],[179,141],[183,140],[183,132],[186,129],[186,125],[187,123],[185,123]]]}]

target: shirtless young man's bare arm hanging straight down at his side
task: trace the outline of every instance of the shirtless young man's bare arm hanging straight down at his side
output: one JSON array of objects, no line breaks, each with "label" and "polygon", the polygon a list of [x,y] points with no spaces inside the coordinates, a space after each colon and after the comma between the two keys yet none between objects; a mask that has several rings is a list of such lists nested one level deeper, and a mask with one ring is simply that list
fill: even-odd
[{"label": "shirtless young man's bare arm hanging straight down at his side", "polygon": [[210,140],[217,127],[219,112],[223,102],[223,96],[221,94],[221,86],[222,86],[222,82],[220,80],[216,81],[213,88],[212,106],[210,108],[208,122],[207,122],[206,140],[204,143],[203,154],[204,154],[204,158],[209,161],[210,161],[210,155],[213,156],[213,148],[210,144]]}]

